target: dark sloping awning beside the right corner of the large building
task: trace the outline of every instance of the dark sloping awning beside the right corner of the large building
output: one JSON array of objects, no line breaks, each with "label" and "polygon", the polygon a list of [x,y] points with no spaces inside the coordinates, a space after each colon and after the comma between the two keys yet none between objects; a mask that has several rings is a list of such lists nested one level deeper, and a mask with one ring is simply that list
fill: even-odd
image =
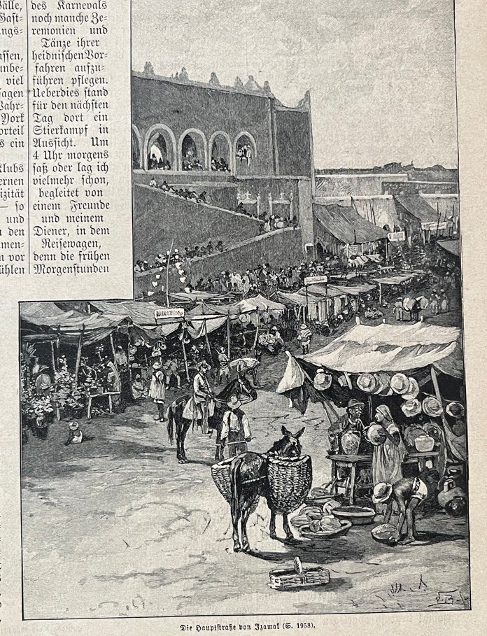
[{"label": "dark sloping awning beside the right corner of the large building", "polygon": [[313,203],[313,214],[341,243],[373,243],[387,237],[385,230],[362,218],[352,207]]}]

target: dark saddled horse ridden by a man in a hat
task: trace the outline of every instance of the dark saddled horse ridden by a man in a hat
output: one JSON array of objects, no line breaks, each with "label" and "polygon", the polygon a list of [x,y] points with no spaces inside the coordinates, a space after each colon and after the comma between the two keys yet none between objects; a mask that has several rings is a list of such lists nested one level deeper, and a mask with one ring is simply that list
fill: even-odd
[{"label": "dark saddled horse ridden by a man in a hat", "polygon": [[[222,432],[223,414],[227,410],[227,402],[232,395],[237,396],[242,402],[253,402],[253,400],[257,399],[257,391],[244,376],[231,380],[225,388],[213,398],[215,400],[215,413],[209,418],[208,426],[210,429],[216,430],[215,460],[217,462],[223,460],[223,446],[221,445],[220,434]],[[184,441],[186,433],[190,428],[191,420],[183,418],[183,411],[188,399],[190,399],[188,395],[178,397],[170,404],[169,409],[167,409],[167,434],[171,444],[174,444],[174,427],[176,427],[176,457],[180,464],[188,462]]]}]

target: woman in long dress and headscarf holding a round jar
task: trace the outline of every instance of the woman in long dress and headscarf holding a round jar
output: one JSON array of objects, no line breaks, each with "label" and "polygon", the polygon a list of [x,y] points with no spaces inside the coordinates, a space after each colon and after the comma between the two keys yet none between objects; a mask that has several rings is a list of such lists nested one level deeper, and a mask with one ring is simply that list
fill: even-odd
[{"label": "woman in long dress and headscarf holding a round jar", "polygon": [[394,484],[402,479],[402,462],[406,455],[406,447],[390,410],[385,404],[376,408],[375,420],[383,427],[384,441],[374,446],[372,457],[372,481],[374,486],[385,481]]}]

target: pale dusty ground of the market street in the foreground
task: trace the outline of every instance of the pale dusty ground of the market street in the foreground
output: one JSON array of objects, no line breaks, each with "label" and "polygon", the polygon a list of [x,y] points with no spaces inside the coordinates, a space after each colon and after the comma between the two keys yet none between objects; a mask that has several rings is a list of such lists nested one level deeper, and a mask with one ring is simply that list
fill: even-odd
[{"label": "pale dusty ground of the market street in the foreground", "polygon": [[[318,486],[330,476],[323,411],[311,405],[299,416],[274,393],[285,359],[264,359],[264,388],[246,407],[252,450],[266,451],[281,437],[282,423],[291,430],[305,425],[303,452],[313,459]],[[253,553],[234,554],[230,509],[210,474],[213,440],[188,434],[190,463],[179,465],[154,416],[146,401],[81,421],[94,436],[81,446],[64,446],[66,422],[53,424],[47,440],[30,437],[24,446],[26,619],[470,607],[467,523],[444,514],[420,517],[418,530],[430,533],[421,545],[388,548],[365,526],[320,545],[289,546],[269,539],[261,502],[249,523]],[[325,565],[330,584],[271,590],[269,570],[296,555],[305,566]]]}]

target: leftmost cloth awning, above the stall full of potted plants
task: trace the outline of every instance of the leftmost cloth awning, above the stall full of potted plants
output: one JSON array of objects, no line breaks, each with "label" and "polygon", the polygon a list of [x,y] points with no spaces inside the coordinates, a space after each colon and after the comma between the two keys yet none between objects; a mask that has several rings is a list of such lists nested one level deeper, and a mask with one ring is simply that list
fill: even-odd
[{"label": "leftmost cloth awning, above the stall full of potted plants", "polygon": [[92,344],[106,338],[119,325],[127,322],[123,316],[114,313],[80,313],[62,311],[53,302],[22,302],[20,318],[47,330],[59,329],[59,336],[66,344],[78,344],[83,332],[83,344]]}]

